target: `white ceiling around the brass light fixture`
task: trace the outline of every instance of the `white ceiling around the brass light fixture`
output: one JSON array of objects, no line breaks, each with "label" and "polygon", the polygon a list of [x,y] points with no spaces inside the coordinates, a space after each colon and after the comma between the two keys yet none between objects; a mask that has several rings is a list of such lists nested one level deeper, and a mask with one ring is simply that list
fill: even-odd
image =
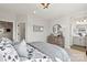
[{"label": "white ceiling around the brass light fixture", "polygon": [[48,9],[42,9],[39,3],[0,3],[0,11],[14,14],[33,14],[45,20],[62,18],[81,11],[87,11],[86,3],[52,3]]}]

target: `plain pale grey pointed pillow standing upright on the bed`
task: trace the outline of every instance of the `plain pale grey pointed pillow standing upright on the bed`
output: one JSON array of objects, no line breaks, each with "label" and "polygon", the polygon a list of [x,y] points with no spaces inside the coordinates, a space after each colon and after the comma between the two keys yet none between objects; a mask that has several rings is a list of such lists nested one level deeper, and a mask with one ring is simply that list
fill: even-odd
[{"label": "plain pale grey pointed pillow standing upright on the bed", "polygon": [[15,46],[15,50],[20,56],[28,57],[28,47],[24,40]]}]

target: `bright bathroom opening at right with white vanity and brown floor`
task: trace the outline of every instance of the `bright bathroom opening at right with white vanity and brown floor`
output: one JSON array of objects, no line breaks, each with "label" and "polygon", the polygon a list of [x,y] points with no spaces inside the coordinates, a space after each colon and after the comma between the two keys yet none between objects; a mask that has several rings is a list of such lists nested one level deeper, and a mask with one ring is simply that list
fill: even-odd
[{"label": "bright bathroom opening at right with white vanity and brown floor", "polygon": [[72,23],[72,48],[86,51],[87,44],[87,24],[81,21],[73,21]]}]

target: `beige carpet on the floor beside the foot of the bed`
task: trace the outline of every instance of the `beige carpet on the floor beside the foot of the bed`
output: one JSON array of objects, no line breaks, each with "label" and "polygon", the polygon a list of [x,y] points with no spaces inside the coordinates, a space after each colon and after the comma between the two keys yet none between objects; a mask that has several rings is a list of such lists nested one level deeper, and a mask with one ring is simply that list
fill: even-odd
[{"label": "beige carpet on the floor beside the foot of the bed", "polygon": [[85,52],[77,51],[74,48],[66,50],[70,56],[72,62],[87,62],[87,56]]}]

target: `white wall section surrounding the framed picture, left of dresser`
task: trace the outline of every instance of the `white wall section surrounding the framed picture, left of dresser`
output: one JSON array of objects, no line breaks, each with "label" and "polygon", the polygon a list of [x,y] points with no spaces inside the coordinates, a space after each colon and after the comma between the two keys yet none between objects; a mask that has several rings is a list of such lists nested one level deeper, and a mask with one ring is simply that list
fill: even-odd
[{"label": "white wall section surrounding the framed picture, left of dresser", "polygon": [[[44,26],[43,32],[33,32],[33,25]],[[48,35],[48,22],[36,18],[28,17],[26,22],[26,42],[46,42],[46,36]]]}]

